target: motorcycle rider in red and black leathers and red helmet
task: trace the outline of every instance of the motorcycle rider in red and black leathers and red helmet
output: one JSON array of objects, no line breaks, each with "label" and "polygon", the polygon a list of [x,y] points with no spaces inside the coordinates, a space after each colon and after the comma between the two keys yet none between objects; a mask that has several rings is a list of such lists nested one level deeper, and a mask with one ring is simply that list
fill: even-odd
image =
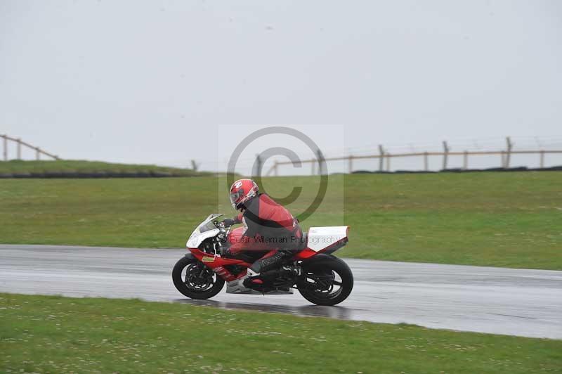
[{"label": "motorcycle rider in red and black leathers and red helmet", "polygon": [[[254,274],[249,275],[254,277],[279,268],[283,260],[292,257],[293,251],[299,249],[303,236],[299,221],[285,207],[260,193],[255,181],[235,181],[230,187],[230,202],[240,213],[233,219],[225,219],[223,224],[244,224],[244,233],[226,255],[235,256],[246,250],[269,250],[251,264],[249,269]],[[294,271],[286,266],[282,270]]]}]

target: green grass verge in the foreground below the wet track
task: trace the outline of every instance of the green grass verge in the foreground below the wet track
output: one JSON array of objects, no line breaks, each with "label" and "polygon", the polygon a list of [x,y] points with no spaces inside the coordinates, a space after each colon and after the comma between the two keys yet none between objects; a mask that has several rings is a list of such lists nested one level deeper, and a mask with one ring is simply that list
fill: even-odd
[{"label": "green grass verge in the foreground below the wet track", "polygon": [[562,341],[119,299],[0,294],[0,371],[532,373]]}]

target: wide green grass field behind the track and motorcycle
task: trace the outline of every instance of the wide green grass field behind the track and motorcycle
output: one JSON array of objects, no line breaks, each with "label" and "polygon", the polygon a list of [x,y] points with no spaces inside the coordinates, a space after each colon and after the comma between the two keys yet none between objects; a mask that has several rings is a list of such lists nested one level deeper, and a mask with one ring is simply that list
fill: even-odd
[{"label": "wide green grass field behind the track and motorcycle", "polygon": [[[0,179],[0,242],[183,247],[211,212],[233,215],[225,181],[176,179]],[[263,179],[275,197],[315,177]],[[309,226],[351,226],[344,257],[562,269],[562,173],[330,176]]]}]

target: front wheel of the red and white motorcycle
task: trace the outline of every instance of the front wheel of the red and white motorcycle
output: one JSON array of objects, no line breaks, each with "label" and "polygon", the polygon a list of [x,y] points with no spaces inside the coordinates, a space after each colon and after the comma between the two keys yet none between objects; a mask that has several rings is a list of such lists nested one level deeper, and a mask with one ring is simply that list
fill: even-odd
[{"label": "front wheel of the red and white motorcycle", "polygon": [[224,279],[195,258],[183,257],[171,271],[174,285],[191,299],[209,299],[221,292]]}]

